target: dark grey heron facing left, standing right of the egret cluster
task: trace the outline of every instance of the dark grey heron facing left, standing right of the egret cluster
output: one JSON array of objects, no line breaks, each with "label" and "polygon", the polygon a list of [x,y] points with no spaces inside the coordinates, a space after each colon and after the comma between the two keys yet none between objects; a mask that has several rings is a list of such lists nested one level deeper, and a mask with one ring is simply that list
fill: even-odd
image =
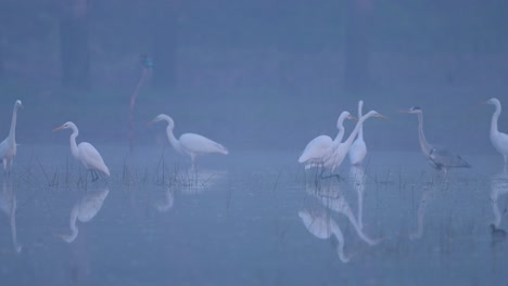
[{"label": "dark grey heron facing left, standing right of the egret cluster", "polygon": [[420,140],[421,152],[432,167],[436,170],[443,170],[445,173],[447,173],[449,168],[471,168],[471,165],[462,159],[460,155],[452,153],[442,146],[432,145],[427,142],[426,134],[423,133],[423,112],[420,107],[414,106],[408,110],[401,110],[401,113],[418,115],[418,136]]}]

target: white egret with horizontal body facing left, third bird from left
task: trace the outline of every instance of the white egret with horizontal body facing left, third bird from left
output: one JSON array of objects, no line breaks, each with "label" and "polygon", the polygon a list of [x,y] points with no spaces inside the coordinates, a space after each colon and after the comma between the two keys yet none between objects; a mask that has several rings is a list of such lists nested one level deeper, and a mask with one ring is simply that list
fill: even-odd
[{"label": "white egret with horizontal body facing left, third bird from left", "polygon": [[152,121],[149,122],[149,125],[158,121],[167,122],[166,133],[169,143],[176,152],[190,156],[193,170],[195,170],[195,161],[199,156],[212,153],[219,153],[224,155],[228,154],[228,150],[225,146],[200,134],[185,133],[181,134],[180,139],[177,140],[173,133],[175,121],[173,121],[172,117],[165,114],[157,115]]}]

